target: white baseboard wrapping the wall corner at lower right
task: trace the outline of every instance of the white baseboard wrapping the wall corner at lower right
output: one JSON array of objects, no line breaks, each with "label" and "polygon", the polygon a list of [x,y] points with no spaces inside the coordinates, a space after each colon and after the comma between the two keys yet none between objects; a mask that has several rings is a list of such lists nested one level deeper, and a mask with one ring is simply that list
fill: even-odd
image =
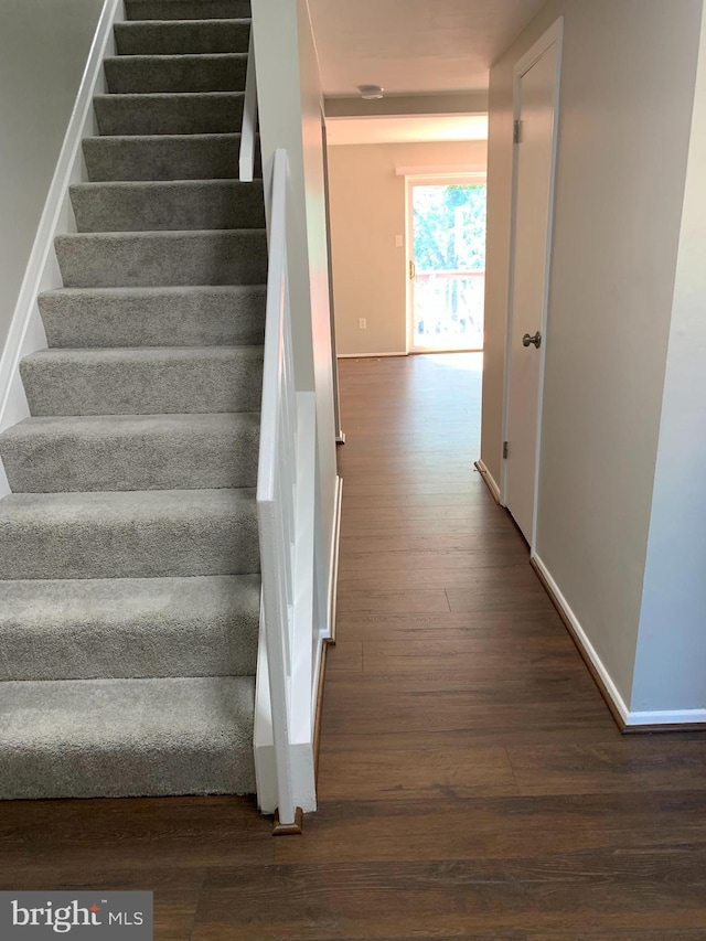
[{"label": "white baseboard wrapping the wall corner at lower right", "polygon": [[655,726],[673,727],[706,724],[706,709],[631,712],[620,695],[618,687],[606,667],[606,664],[602,662],[596,651],[596,648],[588,639],[588,634],[581,627],[578,618],[571,610],[548,568],[536,554],[532,556],[532,563],[554,595],[554,600],[560,608],[564,619],[570,624],[571,632],[574,633],[577,643],[580,644],[586,657],[590,661],[596,673],[600,677],[603,691],[606,695],[610,697],[612,705],[614,706],[614,710],[624,724],[625,731],[639,731],[641,728],[652,728]]}]

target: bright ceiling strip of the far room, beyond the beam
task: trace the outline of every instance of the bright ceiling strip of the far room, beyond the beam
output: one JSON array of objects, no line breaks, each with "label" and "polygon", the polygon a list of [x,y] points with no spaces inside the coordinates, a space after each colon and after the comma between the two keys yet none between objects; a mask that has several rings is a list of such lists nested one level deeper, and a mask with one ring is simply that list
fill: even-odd
[{"label": "bright ceiling strip of the far room, beyond the beam", "polygon": [[329,118],[327,139],[347,143],[418,143],[428,140],[485,140],[486,115]]}]

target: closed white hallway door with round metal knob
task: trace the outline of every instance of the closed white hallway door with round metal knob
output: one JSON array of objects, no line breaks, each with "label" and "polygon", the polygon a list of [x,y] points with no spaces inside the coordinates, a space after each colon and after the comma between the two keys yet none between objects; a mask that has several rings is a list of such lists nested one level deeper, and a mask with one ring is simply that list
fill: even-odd
[{"label": "closed white hallway door with round metal knob", "polygon": [[514,249],[511,264],[504,503],[531,545],[546,344],[559,39],[515,69]]}]

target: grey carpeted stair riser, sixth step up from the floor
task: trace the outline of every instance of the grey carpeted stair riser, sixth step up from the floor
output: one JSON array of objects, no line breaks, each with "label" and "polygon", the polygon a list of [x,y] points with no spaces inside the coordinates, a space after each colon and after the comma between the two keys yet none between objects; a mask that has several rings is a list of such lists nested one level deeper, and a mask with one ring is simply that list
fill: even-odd
[{"label": "grey carpeted stair riser, sixth step up from the floor", "polygon": [[51,347],[237,346],[261,344],[265,288],[237,293],[154,291],[106,296],[97,292],[40,295]]}]

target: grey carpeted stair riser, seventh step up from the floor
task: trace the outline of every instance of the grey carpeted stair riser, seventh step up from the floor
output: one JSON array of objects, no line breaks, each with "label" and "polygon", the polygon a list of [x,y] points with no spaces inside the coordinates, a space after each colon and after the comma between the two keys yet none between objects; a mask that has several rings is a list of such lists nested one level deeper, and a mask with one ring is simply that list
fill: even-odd
[{"label": "grey carpeted stair riser, seventh step up from the floor", "polygon": [[265,232],[64,235],[55,239],[66,288],[261,285]]}]

